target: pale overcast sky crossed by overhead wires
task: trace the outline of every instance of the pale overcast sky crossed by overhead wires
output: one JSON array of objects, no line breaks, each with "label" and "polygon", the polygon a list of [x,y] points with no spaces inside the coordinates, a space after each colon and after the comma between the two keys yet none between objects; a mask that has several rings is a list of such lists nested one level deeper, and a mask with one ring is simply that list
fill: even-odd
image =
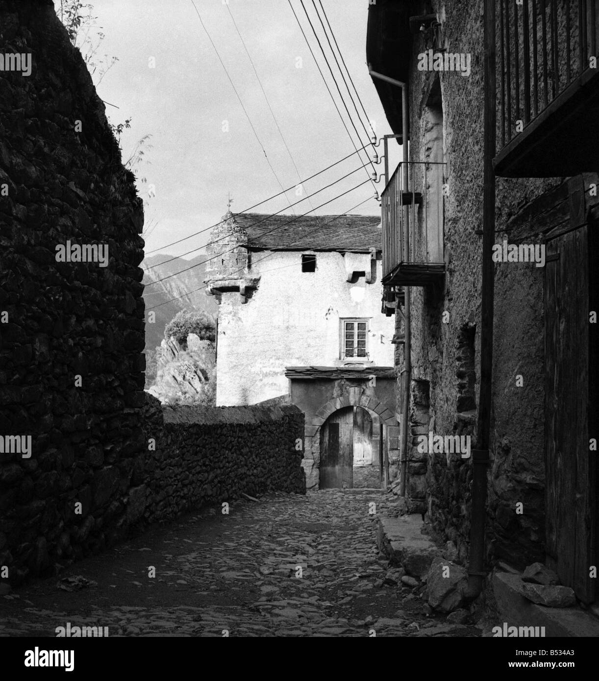
[{"label": "pale overcast sky crossed by overhead wires", "polygon": [[[311,176],[354,151],[288,0],[229,0],[228,5],[224,0],[195,0],[261,144],[191,0],[96,0],[92,4],[93,16],[97,17],[95,24],[102,27],[106,35],[97,56],[107,54],[119,59],[99,82],[97,92],[104,101],[119,107],[106,107],[112,123],[132,118],[131,129],[126,130],[121,138],[123,160],[132,153],[137,140],[151,135],[152,148],[146,151],[146,160],[137,172],[147,178],[147,183],[155,186],[155,196],[149,199],[145,196],[149,201],[147,225],[157,221],[147,238],[147,254],[160,249],[181,255],[202,247],[209,240],[209,232],[177,246],[163,248],[170,242],[217,223],[227,210],[229,191],[233,212],[241,212],[281,191],[268,161],[285,189],[298,184],[298,174],[228,10],[254,61],[301,178]],[[337,72],[312,0],[304,0],[304,4],[335,70],[362,144],[367,144],[366,133]],[[356,146],[361,146],[300,0],[292,0],[292,5]],[[318,0],[316,5],[320,10]],[[322,0],[322,5],[369,119],[379,136],[390,133],[366,64],[368,1]],[[151,67],[153,61],[155,67]],[[95,76],[94,81],[97,80]],[[357,101],[356,104],[361,113]],[[365,116],[362,120],[367,126]],[[224,131],[224,121],[228,123],[228,131]],[[394,143],[392,168],[399,161],[399,149]],[[371,147],[370,151],[373,151]],[[378,152],[382,155],[382,145]],[[303,196],[333,183],[359,165],[354,154],[306,183],[307,191]],[[381,163],[378,169],[382,172],[382,168]],[[371,172],[369,166],[368,175]],[[311,198],[311,205],[306,200],[294,210],[301,215],[312,206],[316,208],[364,180],[367,180],[367,172],[358,170]],[[379,191],[382,187],[381,182]],[[367,183],[316,212],[343,213],[373,197],[373,193],[373,185]],[[297,196],[293,189],[286,197],[289,202],[294,202],[302,195]],[[288,201],[281,196],[255,208],[254,212],[268,213],[286,208],[284,212],[292,213]],[[379,210],[378,203],[372,198],[350,212],[377,215]],[[187,257],[198,253],[201,251]]]}]

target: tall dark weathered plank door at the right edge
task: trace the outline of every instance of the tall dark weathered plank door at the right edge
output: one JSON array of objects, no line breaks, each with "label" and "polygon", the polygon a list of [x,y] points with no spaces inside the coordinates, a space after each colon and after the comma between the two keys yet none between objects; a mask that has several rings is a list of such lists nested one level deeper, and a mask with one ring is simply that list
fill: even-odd
[{"label": "tall dark weathered plank door at the right edge", "polygon": [[[588,227],[547,244],[545,264],[545,470],[547,563],[591,603],[596,565],[596,452],[589,451],[592,371],[589,347]],[[595,265],[596,266],[596,265]]]}]

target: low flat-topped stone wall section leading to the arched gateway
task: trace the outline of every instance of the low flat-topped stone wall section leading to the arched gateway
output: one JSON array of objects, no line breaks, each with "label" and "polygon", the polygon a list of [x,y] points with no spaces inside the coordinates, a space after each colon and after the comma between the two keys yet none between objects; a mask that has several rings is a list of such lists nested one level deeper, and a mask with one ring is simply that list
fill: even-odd
[{"label": "low flat-topped stone wall section leading to the arched gateway", "polygon": [[160,407],[146,396],[143,518],[270,491],[305,494],[301,468],[304,415],[297,407]]}]

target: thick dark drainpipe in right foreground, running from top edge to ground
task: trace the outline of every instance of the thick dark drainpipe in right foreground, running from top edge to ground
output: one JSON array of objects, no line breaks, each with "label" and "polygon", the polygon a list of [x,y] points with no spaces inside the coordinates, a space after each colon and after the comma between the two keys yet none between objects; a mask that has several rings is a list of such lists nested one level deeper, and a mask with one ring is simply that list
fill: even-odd
[{"label": "thick dark drainpipe in right foreground, running from top edge to ground", "polygon": [[465,596],[475,599],[485,579],[485,505],[491,432],[491,380],[493,373],[493,289],[491,255],[495,243],[495,0],[485,0],[485,118],[482,194],[482,283],[480,290],[480,390],[476,446],[472,464],[470,562]]}]

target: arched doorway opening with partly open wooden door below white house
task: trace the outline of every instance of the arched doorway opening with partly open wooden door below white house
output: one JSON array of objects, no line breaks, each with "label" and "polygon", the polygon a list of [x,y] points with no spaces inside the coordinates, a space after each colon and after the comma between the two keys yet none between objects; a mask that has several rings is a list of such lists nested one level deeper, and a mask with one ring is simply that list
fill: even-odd
[{"label": "arched doorway opening with partly open wooden door below white house", "polygon": [[373,449],[378,447],[367,409],[350,406],[331,414],[320,429],[320,489],[380,487],[380,455]]}]

